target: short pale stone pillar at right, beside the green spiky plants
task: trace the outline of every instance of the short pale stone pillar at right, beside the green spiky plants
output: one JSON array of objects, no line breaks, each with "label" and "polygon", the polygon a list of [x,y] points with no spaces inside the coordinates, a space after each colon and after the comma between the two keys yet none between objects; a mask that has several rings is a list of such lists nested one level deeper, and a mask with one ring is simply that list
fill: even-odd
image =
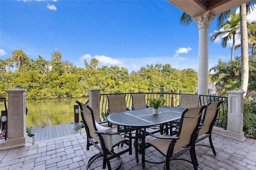
[{"label": "short pale stone pillar at right, beside the green spiky plants", "polygon": [[228,93],[228,130],[226,135],[230,138],[244,141],[244,93],[245,91],[227,91]]}]

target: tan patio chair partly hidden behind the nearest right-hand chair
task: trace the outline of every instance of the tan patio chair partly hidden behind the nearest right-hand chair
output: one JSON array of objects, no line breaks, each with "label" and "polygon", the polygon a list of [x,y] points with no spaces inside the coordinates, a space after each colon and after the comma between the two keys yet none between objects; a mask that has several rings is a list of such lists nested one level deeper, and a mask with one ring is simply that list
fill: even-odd
[{"label": "tan patio chair partly hidden behind the nearest right-hand chair", "polygon": [[216,155],[216,151],[212,144],[212,128],[218,116],[218,111],[220,109],[220,104],[222,102],[223,101],[212,102],[210,105],[208,105],[206,112],[204,112],[204,114],[202,115],[202,121],[200,123],[202,127],[200,128],[198,132],[198,138],[196,139],[196,143],[198,143],[201,140],[204,140],[205,138],[209,138],[210,146],[204,145],[204,144],[196,144],[196,145],[202,145],[202,146],[207,146],[212,148],[212,152],[214,155]]}]

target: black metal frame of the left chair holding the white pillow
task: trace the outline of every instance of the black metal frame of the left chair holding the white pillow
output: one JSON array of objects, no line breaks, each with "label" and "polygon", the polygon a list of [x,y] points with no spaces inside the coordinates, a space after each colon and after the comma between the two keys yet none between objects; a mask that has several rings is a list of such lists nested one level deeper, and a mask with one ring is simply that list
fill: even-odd
[{"label": "black metal frame of the left chair holding the white pillow", "polygon": [[[95,148],[97,148],[100,151],[100,153],[95,154],[94,156],[92,156],[88,160],[86,168],[88,170],[90,170],[90,165],[96,159],[98,159],[100,156],[103,156],[103,163],[102,163],[102,168],[103,169],[106,169],[106,166],[108,166],[108,170],[112,170],[111,165],[110,165],[110,160],[112,160],[113,158],[118,158],[119,161],[120,161],[119,166],[115,170],[120,169],[121,166],[122,166],[122,159],[120,158],[120,155],[125,154],[126,152],[129,152],[129,155],[132,154],[131,130],[134,130],[134,129],[133,128],[129,128],[129,129],[126,129],[126,130],[120,130],[118,132],[100,132],[96,128],[94,114],[93,114],[92,109],[88,105],[86,105],[86,107],[90,110],[90,113],[84,112],[84,111],[82,111],[82,105],[81,105],[82,103],[80,103],[79,101],[76,101],[76,103],[78,103],[78,105],[80,106],[80,112],[81,112],[82,120],[84,121],[84,128],[86,130],[86,136],[87,136],[86,150],[89,150],[89,146],[93,145]],[[91,114],[91,116],[92,116],[93,126],[94,126],[94,129],[95,129],[95,133],[97,134],[97,136],[98,136],[98,138],[100,140],[100,146],[99,146],[99,143],[90,135],[89,127],[86,124],[86,121],[85,121],[85,118],[84,118],[84,115],[83,115],[84,113]],[[122,141],[120,141],[120,142],[118,142],[116,144],[113,144],[112,149],[108,150],[106,148],[106,146],[105,146],[104,138],[103,138],[102,135],[115,135],[115,134],[120,135],[120,134],[123,134],[124,132],[129,133],[130,138],[129,139],[124,138],[124,140],[122,140]],[[118,153],[114,152],[113,148],[118,146],[120,143],[124,143],[124,144],[128,145],[128,148],[125,149],[125,150],[122,150],[122,151],[120,151]],[[110,155],[110,156],[108,156],[108,155]]]}]

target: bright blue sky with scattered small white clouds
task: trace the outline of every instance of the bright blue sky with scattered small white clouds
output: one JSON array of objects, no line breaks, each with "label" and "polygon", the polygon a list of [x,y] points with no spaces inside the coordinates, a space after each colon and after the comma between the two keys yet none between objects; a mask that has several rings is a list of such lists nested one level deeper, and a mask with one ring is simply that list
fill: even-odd
[{"label": "bright blue sky with scattered small white clouds", "polygon": [[[97,67],[129,73],[156,63],[198,71],[198,26],[180,24],[182,13],[166,0],[0,0],[0,59],[22,49],[50,61],[59,51],[61,61],[82,68],[96,58]],[[231,42],[224,49],[221,39],[210,41],[216,18],[208,30],[209,68],[231,57]],[[256,10],[248,20],[256,20]]]}]

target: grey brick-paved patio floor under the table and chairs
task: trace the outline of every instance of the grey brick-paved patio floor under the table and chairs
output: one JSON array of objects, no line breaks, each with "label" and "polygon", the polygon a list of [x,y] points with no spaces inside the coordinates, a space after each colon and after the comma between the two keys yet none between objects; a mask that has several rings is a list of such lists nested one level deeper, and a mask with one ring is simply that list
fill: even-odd
[{"label": "grey brick-paved patio floor under the table and chairs", "polygon": [[[116,130],[116,129],[114,129]],[[150,129],[149,129],[150,130]],[[196,146],[196,154],[199,162],[199,169],[203,170],[255,170],[256,166],[256,140],[246,139],[244,142],[224,137],[220,134],[212,134],[213,144],[217,155],[214,156],[210,148]],[[207,139],[200,143],[207,144]],[[122,149],[116,148],[116,149]],[[133,154],[122,155],[121,170],[141,170],[141,160],[136,164],[134,148]],[[35,145],[3,150],[0,152],[1,170],[83,170],[86,169],[88,158],[98,153],[93,146],[86,150],[86,135],[70,135],[52,140],[36,142]],[[150,152],[146,156],[152,159],[162,159]],[[139,155],[141,157],[141,154]],[[190,158],[189,153],[182,155]],[[174,160],[171,163],[172,169],[184,170],[194,169],[193,165],[186,161]],[[101,168],[101,161],[94,164],[95,169]],[[96,168],[96,166],[99,166]],[[164,164],[146,163],[146,170],[162,170]]]}]

